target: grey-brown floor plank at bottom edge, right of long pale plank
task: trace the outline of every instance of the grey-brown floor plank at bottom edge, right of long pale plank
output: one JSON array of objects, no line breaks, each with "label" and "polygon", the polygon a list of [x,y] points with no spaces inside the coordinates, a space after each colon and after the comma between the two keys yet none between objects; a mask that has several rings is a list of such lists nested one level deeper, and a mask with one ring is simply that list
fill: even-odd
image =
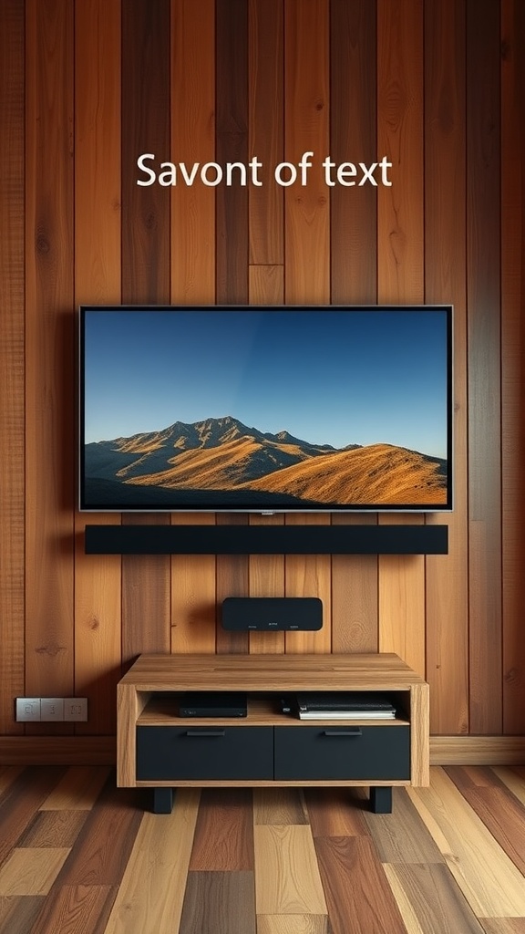
[{"label": "grey-brown floor plank at bottom edge, right of long pale plank", "polygon": [[170,934],[256,934],[253,872],[189,872],[180,927]]}]

